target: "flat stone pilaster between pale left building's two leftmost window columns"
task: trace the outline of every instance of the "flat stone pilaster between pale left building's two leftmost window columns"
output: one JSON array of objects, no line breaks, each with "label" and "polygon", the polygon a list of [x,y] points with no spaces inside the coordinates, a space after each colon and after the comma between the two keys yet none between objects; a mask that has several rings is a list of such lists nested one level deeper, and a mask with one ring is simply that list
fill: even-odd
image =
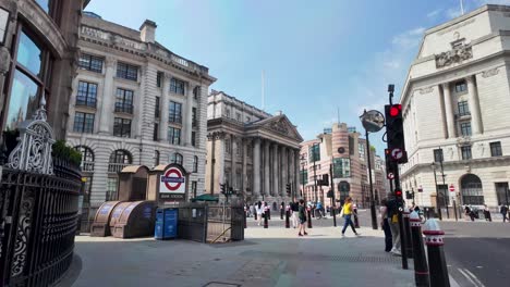
[{"label": "flat stone pilaster between pale left building's two leftmost window columns", "polygon": [[102,88],[101,120],[99,121],[99,134],[111,135],[113,128],[113,105],[116,95],[113,92],[113,77],[116,76],[116,59],[107,57],[105,59],[105,85]]}]

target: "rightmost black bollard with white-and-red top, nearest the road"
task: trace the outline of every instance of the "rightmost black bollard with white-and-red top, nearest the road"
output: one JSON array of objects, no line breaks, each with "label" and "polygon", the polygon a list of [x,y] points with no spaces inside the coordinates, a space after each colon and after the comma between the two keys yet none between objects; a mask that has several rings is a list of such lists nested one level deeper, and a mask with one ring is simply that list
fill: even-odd
[{"label": "rightmost black bollard with white-and-red top, nearest the road", "polygon": [[445,232],[441,230],[439,222],[433,219],[425,223],[423,234],[425,235],[425,244],[427,245],[430,286],[450,287],[444,250],[445,241],[442,240]]}]

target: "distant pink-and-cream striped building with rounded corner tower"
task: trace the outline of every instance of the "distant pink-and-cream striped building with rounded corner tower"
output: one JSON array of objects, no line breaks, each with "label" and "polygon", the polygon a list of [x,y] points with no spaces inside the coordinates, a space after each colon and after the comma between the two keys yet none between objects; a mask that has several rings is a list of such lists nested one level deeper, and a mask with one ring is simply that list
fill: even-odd
[{"label": "distant pink-and-cream striped building with rounded corner tower", "polygon": [[[369,205],[367,147],[366,139],[360,136],[360,133],[356,133],[354,128],[340,123],[333,124],[332,128],[325,129],[316,139],[304,141],[301,145],[300,188],[303,189],[304,184],[303,196],[306,200],[330,204],[327,192],[331,187],[317,186],[316,194],[314,175],[317,179],[321,179],[326,174],[330,175],[330,165],[332,164],[335,198],[342,201],[350,196],[361,207],[366,208]],[[384,171],[384,161],[375,153],[375,149],[373,149],[371,167],[374,197],[376,202],[379,202],[386,195],[386,173]]]}]

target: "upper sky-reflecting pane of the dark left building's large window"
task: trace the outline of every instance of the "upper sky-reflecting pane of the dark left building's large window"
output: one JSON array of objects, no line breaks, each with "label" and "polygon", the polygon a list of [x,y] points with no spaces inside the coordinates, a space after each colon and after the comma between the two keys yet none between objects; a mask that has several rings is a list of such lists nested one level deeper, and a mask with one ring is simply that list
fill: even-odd
[{"label": "upper sky-reflecting pane of the dark left building's large window", "polygon": [[16,61],[34,75],[41,77],[39,73],[42,65],[42,50],[25,33],[20,37]]}]

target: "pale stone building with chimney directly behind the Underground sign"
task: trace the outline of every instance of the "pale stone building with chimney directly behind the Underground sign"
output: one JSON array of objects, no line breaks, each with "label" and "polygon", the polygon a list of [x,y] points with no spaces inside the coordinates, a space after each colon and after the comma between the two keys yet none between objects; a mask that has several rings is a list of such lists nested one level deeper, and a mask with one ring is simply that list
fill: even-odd
[{"label": "pale stone building with chimney directly behind the Underground sign", "polygon": [[117,199],[118,172],[180,163],[189,195],[205,190],[208,68],[156,41],[156,23],[131,29],[85,12],[68,144],[82,152],[85,202],[94,214]]}]

